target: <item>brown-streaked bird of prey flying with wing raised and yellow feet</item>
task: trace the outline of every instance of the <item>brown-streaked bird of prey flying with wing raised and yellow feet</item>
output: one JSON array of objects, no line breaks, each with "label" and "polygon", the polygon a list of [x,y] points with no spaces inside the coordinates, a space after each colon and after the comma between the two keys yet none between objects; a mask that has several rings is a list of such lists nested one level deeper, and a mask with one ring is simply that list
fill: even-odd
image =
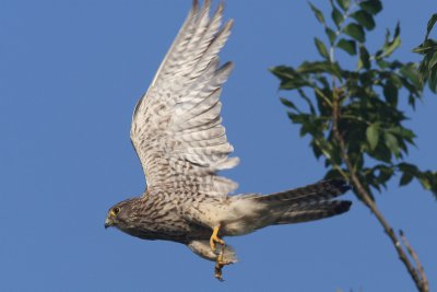
[{"label": "brown-streaked bird of prey flying with wing raised and yellow feet", "polygon": [[323,180],[271,195],[228,196],[237,184],[217,172],[238,164],[222,126],[220,95],[233,63],[220,66],[218,51],[233,21],[222,25],[223,4],[210,16],[211,1],[194,0],[182,27],[146,93],[138,102],[130,138],[146,189],[111,207],[105,227],[143,240],[187,245],[215,261],[215,277],[236,262],[224,236],[323,219],[346,212],[344,180]]}]

